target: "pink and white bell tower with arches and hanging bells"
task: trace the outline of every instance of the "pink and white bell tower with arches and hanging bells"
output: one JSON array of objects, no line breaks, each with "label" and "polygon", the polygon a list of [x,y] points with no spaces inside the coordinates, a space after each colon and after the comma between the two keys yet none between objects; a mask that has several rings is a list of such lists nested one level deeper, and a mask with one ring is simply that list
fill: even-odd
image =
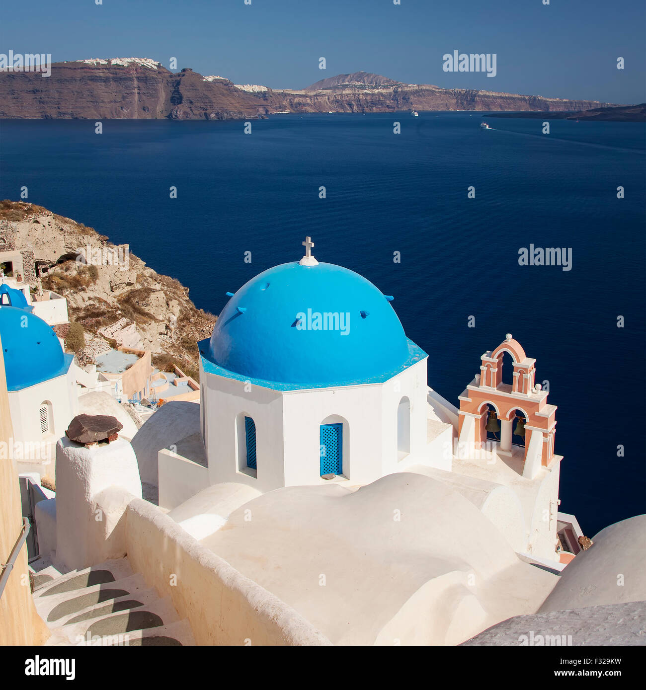
[{"label": "pink and white bell tower with arches and hanging bells", "polygon": [[[513,362],[513,382],[502,383],[502,355],[509,353]],[[547,391],[534,384],[536,359],[525,355],[517,340],[507,333],[493,351],[482,355],[480,373],[460,395],[459,449],[467,457],[482,449],[487,441],[489,405],[500,422],[498,455],[512,455],[513,423],[517,413],[525,417],[525,453],[523,477],[533,479],[541,467],[554,460],[556,406],[547,404]]]}]

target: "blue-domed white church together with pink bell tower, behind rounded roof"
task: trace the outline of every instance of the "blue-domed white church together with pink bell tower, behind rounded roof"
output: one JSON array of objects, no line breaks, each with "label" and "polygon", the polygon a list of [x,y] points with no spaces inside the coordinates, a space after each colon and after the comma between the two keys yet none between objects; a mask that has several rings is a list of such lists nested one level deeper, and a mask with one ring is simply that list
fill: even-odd
[{"label": "blue-domed white church together with pink bell tower, behind rounded roof", "polygon": [[[135,436],[141,480],[158,487],[159,505],[186,517],[184,529],[209,513],[195,528],[203,537],[213,512],[224,524],[241,502],[277,489],[356,491],[413,472],[462,493],[517,553],[559,566],[561,457],[553,452],[556,407],[547,405],[547,393],[512,391],[502,378],[480,386],[478,375],[469,386],[472,402],[463,394],[458,410],[427,385],[427,353],[407,338],[393,297],[358,273],[317,262],[309,237],[303,244],[299,262],[265,270],[227,293],[213,335],[198,343],[199,407],[162,408]],[[515,368],[525,361],[507,335],[494,353],[500,376],[503,350],[519,358]],[[502,438],[487,431],[496,428],[500,397],[511,415],[511,422],[502,420]],[[536,408],[525,422],[545,419],[551,434],[549,453],[538,461],[531,455],[531,472],[514,408]],[[464,420],[475,417],[479,433],[460,435]],[[511,444],[506,430],[513,423],[520,435]],[[538,437],[531,424],[528,436]],[[158,452],[150,451],[154,444]],[[221,510],[199,500],[214,486]]]}]

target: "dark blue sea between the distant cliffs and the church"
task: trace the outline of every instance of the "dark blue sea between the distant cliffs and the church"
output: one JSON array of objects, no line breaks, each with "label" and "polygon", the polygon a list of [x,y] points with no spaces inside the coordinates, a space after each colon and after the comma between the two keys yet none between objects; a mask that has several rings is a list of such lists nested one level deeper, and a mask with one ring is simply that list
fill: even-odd
[{"label": "dark blue sea between the distant cliffs and the church", "polygon": [[[560,510],[592,536],[645,512],[645,126],[479,124],[464,112],[274,115],[251,135],[242,121],[104,121],[97,135],[94,121],[2,121],[0,198],[27,186],[29,201],[130,243],[216,314],[227,290],[300,259],[311,235],[317,259],[395,295],[429,353],[429,385],[455,404],[511,332],[558,406]],[[519,266],[530,244],[571,248],[571,270]]]}]

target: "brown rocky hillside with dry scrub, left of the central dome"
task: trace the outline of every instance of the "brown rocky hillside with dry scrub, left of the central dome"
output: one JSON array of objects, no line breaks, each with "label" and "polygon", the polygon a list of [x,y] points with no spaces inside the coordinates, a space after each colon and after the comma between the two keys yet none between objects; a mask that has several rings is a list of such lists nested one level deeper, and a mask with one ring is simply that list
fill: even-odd
[{"label": "brown rocky hillside with dry scrub, left of the central dome", "polygon": [[115,341],[173,358],[197,378],[197,340],[210,337],[215,317],[195,307],[188,288],[148,268],[127,245],[115,246],[94,228],[42,206],[0,201],[2,220],[11,224],[17,246],[30,246],[47,270],[43,288],[65,296],[70,322],[83,326],[79,364]]}]

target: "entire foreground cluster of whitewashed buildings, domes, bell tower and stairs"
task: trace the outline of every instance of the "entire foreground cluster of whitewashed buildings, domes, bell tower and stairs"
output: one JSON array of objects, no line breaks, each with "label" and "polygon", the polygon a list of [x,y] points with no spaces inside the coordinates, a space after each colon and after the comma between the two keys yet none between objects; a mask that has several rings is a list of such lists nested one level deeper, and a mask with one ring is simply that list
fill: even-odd
[{"label": "entire foreground cluster of whitewashed buildings, domes, bell tower and stairs", "polygon": [[302,244],[227,293],[199,384],[145,348],[78,366],[10,248],[0,642],[527,644],[558,615],[571,644],[637,644],[645,516],[590,540],[560,511],[536,360],[501,334],[449,402],[440,344]]}]

